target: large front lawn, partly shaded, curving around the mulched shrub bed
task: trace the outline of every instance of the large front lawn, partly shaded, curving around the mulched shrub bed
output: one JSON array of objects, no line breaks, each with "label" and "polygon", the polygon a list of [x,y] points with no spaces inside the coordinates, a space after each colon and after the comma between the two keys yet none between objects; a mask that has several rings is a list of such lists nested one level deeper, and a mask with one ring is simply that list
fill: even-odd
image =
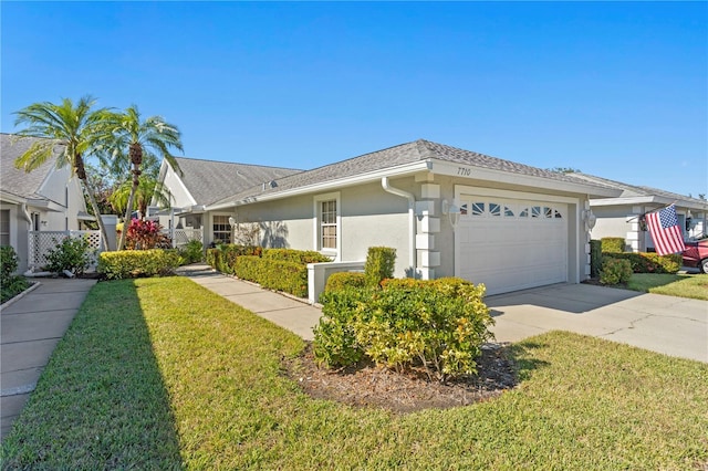
[{"label": "large front lawn, partly shaded, curving around the mulched shrub bed", "polygon": [[4,469],[690,470],[708,365],[570,333],[513,347],[520,386],[396,415],[313,399],[303,342],[183,278],[98,283],[2,443]]}]

